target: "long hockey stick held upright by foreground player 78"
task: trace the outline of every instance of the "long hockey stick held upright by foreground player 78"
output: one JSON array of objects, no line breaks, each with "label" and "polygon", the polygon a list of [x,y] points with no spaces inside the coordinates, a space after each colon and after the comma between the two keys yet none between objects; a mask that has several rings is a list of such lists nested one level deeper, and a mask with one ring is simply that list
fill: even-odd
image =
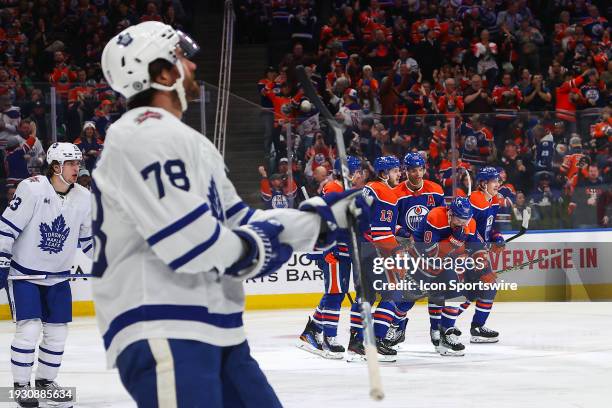
[{"label": "long hockey stick held upright by foreground player 78", "polygon": [[[306,70],[302,65],[296,67],[296,73],[298,80],[302,85],[302,89],[304,94],[308,97],[310,102],[314,103],[323,118],[327,122],[328,126],[333,130],[335,138],[336,138],[336,147],[338,149],[338,156],[340,158],[340,162],[342,163],[342,183],[344,185],[345,191],[350,190],[349,185],[349,171],[348,165],[346,162],[346,147],[344,146],[344,137],[342,135],[342,131],[338,126],[338,123],[332,116],[331,112],[327,109],[327,107],[323,104],[323,101],[317,95],[317,91],[315,90],[312,81],[308,78],[306,74]],[[366,286],[365,277],[361,271],[361,260],[359,257],[359,247],[357,242],[357,225],[356,220],[349,214],[351,219],[351,226],[349,228],[350,238],[351,238],[351,260],[353,262],[354,273],[359,276],[359,283],[361,294],[363,294],[363,289]],[[358,288],[355,288],[356,290]],[[380,367],[378,364],[378,352],[376,349],[376,341],[374,340],[374,325],[372,324],[372,305],[364,299],[363,296],[357,296],[361,306],[361,317],[363,319],[364,326],[364,348],[365,354],[368,364],[368,373],[370,377],[370,397],[376,401],[380,401],[385,397],[385,394],[382,389],[382,381],[380,378]]]}]

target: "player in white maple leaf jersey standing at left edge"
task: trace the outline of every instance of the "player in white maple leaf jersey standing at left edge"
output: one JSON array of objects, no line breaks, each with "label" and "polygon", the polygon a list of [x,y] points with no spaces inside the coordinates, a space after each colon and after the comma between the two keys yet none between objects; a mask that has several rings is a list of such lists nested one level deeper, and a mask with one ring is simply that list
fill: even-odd
[{"label": "player in white maple leaf jersey standing at left edge", "polygon": [[[90,193],[76,184],[81,159],[72,143],[54,143],[47,151],[46,177],[31,177],[17,187],[0,217],[0,289],[7,286],[7,276],[70,273],[79,243],[85,253],[93,253]],[[15,391],[27,395],[42,328],[35,387],[50,396],[55,392],[52,402],[69,401],[55,378],[72,321],[70,282],[52,276],[10,280],[7,292],[16,323],[11,343]],[[17,403],[38,406],[31,397],[19,397]]]}]

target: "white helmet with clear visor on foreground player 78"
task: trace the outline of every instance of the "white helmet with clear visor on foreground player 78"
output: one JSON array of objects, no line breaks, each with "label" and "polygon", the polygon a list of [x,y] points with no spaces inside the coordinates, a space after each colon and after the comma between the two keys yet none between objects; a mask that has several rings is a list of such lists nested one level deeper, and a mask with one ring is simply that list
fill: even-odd
[{"label": "white helmet with clear visor on foreground player 78", "polygon": [[[185,111],[184,72],[183,65],[177,64],[177,47],[188,58],[200,49],[183,32],[159,21],[146,21],[126,28],[110,39],[102,52],[102,72],[111,88],[128,99],[149,88],[176,91]],[[149,78],[149,64],[157,59],[164,59],[178,68],[180,78],[174,85],[153,83]]]}]

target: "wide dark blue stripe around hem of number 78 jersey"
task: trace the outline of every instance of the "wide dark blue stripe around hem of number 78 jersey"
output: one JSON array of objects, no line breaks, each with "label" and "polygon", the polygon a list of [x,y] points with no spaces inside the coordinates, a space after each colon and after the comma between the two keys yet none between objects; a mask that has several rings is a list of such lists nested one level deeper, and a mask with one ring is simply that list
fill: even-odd
[{"label": "wide dark blue stripe around hem of number 78 jersey", "polygon": [[205,306],[195,305],[142,305],[115,317],[102,336],[108,349],[115,336],[123,329],[139,322],[181,320],[206,323],[221,329],[242,327],[242,312],[211,313]]}]

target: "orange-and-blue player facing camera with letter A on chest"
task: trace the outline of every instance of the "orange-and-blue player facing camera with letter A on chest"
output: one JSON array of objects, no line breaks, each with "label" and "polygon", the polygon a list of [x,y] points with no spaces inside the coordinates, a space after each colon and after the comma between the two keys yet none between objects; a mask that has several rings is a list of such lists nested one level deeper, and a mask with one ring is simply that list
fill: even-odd
[{"label": "orange-and-blue player facing camera with letter A on chest", "polygon": [[[395,187],[393,190],[398,196],[398,229],[396,235],[399,237],[412,239],[412,235],[419,229],[420,224],[425,221],[427,214],[434,208],[444,205],[444,191],[442,186],[424,180],[425,160],[418,153],[408,153],[404,157],[404,168],[408,178],[405,182]],[[429,313],[431,321],[430,333],[438,333],[438,323],[442,308],[440,302],[430,302]],[[399,314],[406,314],[414,305],[413,302],[402,302],[396,304]],[[391,326],[388,338],[391,344],[403,340],[405,333],[406,319],[402,322],[394,321]]]}]

